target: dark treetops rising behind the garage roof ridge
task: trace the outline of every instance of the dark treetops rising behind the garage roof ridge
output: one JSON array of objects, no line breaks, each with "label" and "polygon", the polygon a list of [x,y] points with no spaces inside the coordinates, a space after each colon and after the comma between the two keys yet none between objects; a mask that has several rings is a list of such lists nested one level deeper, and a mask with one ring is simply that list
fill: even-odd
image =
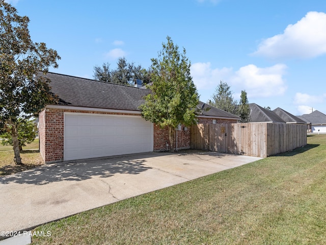
[{"label": "dark treetops rising behind the garage roof ridge", "polygon": [[141,65],[127,62],[126,58],[119,58],[117,68],[111,69],[110,63],[103,63],[102,66],[94,66],[94,79],[123,85],[134,85],[135,80],[142,80],[143,85],[150,82],[151,69],[145,69]]}]

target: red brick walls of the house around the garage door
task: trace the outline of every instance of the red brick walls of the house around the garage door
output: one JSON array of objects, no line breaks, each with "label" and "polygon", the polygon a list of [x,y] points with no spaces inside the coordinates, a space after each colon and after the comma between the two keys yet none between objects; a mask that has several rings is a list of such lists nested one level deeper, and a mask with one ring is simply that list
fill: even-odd
[{"label": "red brick walls of the house around the garage door", "polygon": [[[93,113],[93,114],[115,114],[115,115],[137,115],[135,113],[114,113],[88,110],[53,109],[47,108],[39,114],[39,139],[40,153],[46,163],[64,160],[64,112]],[[212,124],[213,118],[198,118],[199,123]],[[236,122],[236,120],[217,119],[217,122]],[[190,129],[177,131],[178,150],[190,148]],[[168,128],[161,129],[153,126],[153,150],[167,150],[167,143],[170,144]],[[173,139],[176,149],[176,136]]]}]

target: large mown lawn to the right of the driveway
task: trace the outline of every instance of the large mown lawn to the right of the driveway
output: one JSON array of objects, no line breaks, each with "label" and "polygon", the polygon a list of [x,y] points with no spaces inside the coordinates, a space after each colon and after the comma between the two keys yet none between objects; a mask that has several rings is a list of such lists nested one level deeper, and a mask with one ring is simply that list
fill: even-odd
[{"label": "large mown lawn to the right of the driveway", "polygon": [[326,136],[45,224],[33,244],[326,244]]}]

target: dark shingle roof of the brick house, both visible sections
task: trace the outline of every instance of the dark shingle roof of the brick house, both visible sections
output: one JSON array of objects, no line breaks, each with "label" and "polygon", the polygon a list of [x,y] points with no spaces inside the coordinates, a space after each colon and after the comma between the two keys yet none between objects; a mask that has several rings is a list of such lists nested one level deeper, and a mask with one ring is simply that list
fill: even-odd
[{"label": "dark shingle roof of the brick house, both visible sections", "polygon": [[[151,91],[53,72],[48,72],[46,77],[51,80],[51,92],[58,95],[59,104],[67,106],[140,111],[139,106],[144,103],[143,97]],[[201,108],[202,105],[203,102],[200,102],[198,107]],[[206,108],[210,109],[205,110]],[[199,116],[239,119],[207,104]]]}]

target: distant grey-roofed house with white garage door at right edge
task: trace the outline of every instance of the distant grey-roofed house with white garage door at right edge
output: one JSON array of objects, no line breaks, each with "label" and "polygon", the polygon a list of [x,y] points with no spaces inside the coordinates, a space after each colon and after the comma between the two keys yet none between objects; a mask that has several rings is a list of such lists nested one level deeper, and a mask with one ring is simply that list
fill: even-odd
[{"label": "distant grey-roofed house with white garage door at right edge", "polygon": [[326,133],[326,115],[320,111],[314,111],[310,114],[298,116],[301,119],[310,122],[308,130],[312,133]]}]

